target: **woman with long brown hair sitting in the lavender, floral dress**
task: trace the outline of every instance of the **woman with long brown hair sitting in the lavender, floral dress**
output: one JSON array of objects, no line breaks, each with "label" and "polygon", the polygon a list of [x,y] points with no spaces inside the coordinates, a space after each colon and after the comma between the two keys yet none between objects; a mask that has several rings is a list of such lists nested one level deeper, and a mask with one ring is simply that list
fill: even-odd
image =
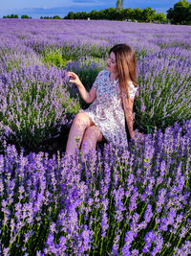
[{"label": "woman with long brown hair sitting in the lavender, floral dress", "polygon": [[96,143],[100,141],[128,146],[125,118],[130,137],[136,135],[133,128],[133,105],[138,89],[135,51],[126,44],[114,46],[109,52],[106,70],[98,73],[90,92],[74,72],[68,72],[68,76],[82,99],[92,105],[75,115],[66,153],[75,154],[76,139],[82,154],[96,150]]}]

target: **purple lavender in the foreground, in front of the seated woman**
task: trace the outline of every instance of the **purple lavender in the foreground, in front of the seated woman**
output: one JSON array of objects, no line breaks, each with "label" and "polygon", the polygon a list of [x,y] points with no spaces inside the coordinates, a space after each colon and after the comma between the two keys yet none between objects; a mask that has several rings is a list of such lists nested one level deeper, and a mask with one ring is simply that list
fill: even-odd
[{"label": "purple lavender in the foreground, in front of the seated woman", "polygon": [[191,122],[83,161],[0,155],[5,255],[189,255]]}]

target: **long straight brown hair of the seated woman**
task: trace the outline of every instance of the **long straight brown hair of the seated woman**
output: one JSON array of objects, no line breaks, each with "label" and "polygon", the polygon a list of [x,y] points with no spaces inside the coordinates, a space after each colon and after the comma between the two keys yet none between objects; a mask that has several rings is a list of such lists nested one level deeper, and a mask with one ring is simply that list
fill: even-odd
[{"label": "long straight brown hair of the seated woman", "polygon": [[132,81],[137,87],[137,58],[133,48],[127,44],[117,44],[110,49],[109,54],[114,53],[117,59],[118,81],[120,93],[124,91],[129,99],[128,81]]}]

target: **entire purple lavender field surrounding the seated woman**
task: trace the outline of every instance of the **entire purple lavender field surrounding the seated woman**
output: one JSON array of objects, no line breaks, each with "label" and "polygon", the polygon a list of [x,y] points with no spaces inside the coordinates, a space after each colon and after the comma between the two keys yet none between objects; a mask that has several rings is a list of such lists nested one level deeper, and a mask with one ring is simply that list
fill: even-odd
[{"label": "entire purple lavender field surrounding the seated woman", "polygon": [[[138,58],[128,149],[64,154],[109,49]],[[0,254],[191,254],[191,27],[0,19]]]}]

